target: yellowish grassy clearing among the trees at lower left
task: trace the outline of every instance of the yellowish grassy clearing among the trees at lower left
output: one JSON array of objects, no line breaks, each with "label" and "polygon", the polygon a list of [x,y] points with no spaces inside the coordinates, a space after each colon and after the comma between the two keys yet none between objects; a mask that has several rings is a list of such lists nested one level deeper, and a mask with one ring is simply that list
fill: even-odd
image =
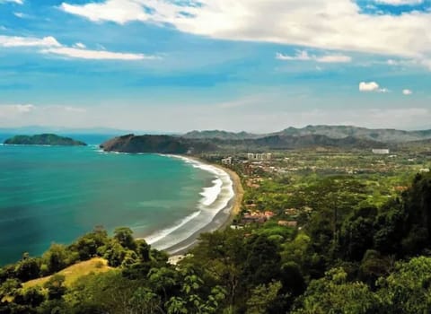
[{"label": "yellowish grassy clearing among the trees at lower left", "polygon": [[[89,275],[91,273],[104,273],[111,269],[113,268],[108,266],[108,261],[106,259],[103,259],[101,257],[94,257],[90,260],[77,263],[73,266],[69,266],[63,269],[62,271],[58,272],[58,274],[64,275],[66,277],[65,283],[66,283],[66,286],[69,286],[72,283],[75,283],[77,279],[79,279],[84,275]],[[43,286],[44,283],[48,282],[50,277],[51,276],[48,275],[47,277],[34,279],[27,283],[22,283],[22,287],[26,289],[36,285]]]}]

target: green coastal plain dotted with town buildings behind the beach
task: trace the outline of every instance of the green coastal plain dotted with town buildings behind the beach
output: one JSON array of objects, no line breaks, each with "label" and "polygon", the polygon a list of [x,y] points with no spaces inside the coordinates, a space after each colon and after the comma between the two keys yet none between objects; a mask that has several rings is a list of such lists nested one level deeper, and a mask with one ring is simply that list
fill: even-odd
[{"label": "green coastal plain dotted with town buildings behind the beach", "polygon": [[417,151],[321,148],[229,156],[207,154],[201,158],[220,163],[241,176],[245,195],[233,229],[277,225],[301,230],[316,209],[312,206],[316,204],[314,196],[326,180],[333,178],[345,181],[343,192],[355,199],[383,205],[407,189],[416,173],[426,173],[431,168],[427,148]]}]

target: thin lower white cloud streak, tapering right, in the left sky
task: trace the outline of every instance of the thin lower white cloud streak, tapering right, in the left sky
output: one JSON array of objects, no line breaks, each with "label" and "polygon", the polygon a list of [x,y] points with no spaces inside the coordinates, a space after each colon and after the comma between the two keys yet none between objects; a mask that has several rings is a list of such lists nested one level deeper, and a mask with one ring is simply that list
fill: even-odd
[{"label": "thin lower white cloud streak, tapering right, in the left sky", "polygon": [[157,58],[155,56],[146,56],[143,54],[111,52],[106,50],[88,50],[68,47],[46,48],[43,49],[42,52],[63,57],[92,60],[153,60]]}]

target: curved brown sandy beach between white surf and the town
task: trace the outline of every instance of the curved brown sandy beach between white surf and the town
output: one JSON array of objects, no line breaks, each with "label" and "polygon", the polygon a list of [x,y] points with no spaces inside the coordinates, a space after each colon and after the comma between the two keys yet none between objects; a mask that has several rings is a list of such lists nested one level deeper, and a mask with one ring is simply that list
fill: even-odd
[{"label": "curved brown sandy beach between white surf and the town", "polygon": [[198,162],[200,164],[204,164],[207,166],[215,167],[218,170],[222,170],[229,176],[233,188],[233,197],[230,199],[228,204],[216,214],[216,216],[211,222],[203,226],[198,231],[195,231],[189,236],[189,238],[182,240],[169,248],[163,249],[163,251],[168,253],[168,255],[170,256],[170,261],[172,262],[172,264],[176,264],[183,255],[187,254],[190,249],[192,249],[198,244],[198,238],[201,233],[224,230],[230,226],[230,224],[233,222],[234,217],[241,211],[243,188],[240,177],[233,170],[225,168],[216,163],[203,161],[195,156],[171,155],[171,157],[180,158],[184,161]]}]

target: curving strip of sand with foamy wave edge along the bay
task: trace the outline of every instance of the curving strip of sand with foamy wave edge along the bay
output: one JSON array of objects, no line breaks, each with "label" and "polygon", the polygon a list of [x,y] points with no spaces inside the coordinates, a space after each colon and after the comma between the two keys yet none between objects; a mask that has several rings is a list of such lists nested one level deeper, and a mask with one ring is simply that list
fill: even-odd
[{"label": "curving strip of sand with foamy wave edge along the bay", "polygon": [[[196,168],[214,172],[217,174],[217,176],[221,176],[223,173],[224,176],[226,176],[226,178],[229,180],[229,183],[227,183],[227,180],[224,179],[223,188],[232,189],[232,196],[229,197],[229,200],[223,206],[223,208],[217,211],[210,222],[189,234],[187,239],[180,240],[178,243],[175,243],[172,246],[163,248],[163,250],[172,257],[172,260],[178,261],[180,258],[179,256],[187,253],[189,249],[198,243],[198,238],[201,233],[224,230],[233,222],[233,218],[241,211],[243,189],[241,179],[233,170],[227,169],[218,164],[210,164],[207,161],[201,161],[195,157],[184,157],[177,155],[170,155],[169,157],[180,158],[181,160],[194,165]],[[160,246],[157,246],[157,242],[155,243],[154,248],[160,249]]]}]

